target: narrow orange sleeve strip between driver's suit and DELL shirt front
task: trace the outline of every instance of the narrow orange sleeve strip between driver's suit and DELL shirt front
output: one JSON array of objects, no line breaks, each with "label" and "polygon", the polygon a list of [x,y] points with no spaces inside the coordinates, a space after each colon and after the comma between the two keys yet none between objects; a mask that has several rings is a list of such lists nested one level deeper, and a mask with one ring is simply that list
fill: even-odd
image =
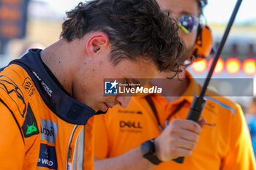
[{"label": "narrow orange sleeve strip between driver's suit and DELL shirt front", "polygon": [[108,137],[105,115],[94,116],[94,157],[99,159],[108,158]]}]

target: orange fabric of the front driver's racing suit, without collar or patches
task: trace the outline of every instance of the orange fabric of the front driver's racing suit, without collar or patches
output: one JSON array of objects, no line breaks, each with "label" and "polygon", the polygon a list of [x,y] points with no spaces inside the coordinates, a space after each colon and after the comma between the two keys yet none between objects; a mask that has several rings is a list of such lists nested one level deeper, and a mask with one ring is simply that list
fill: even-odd
[{"label": "orange fabric of the front driver's racing suit, without collar or patches", "polygon": [[[26,81],[30,83],[29,88],[24,86]],[[78,134],[83,125],[77,125],[78,127],[75,128],[76,125],[67,123],[54,114],[42,100],[34,82],[30,80],[29,74],[21,66],[15,64],[8,66],[0,74],[0,99],[0,169],[49,169],[48,167],[39,167],[38,163],[49,163],[52,166],[55,166],[56,163],[58,164],[57,169],[67,169],[68,150],[72,151],[70,155],[74,155],[73,147],[77,143]],[[37,123],[39,132],[26,137],[26,131],[23,131],[22,126],[29,114],[29,106],[31,112],[34,113],[34,123]],[[17,123],[15,120],[17,120]],[[42,122],[45,124],[43,125]],[[88,125],[85,126],[86,148],[83,156],[86,161],[84,169],[94,169],[92,153],[93,122],[94,119],[91,118]],[[29,127],[29,125],[27,126]],[[57,128],[56,134],[51,131],[53,128]],[[72,135],[74,129],[74,135]],[[46,134],[46,139],[42,139],[44,134]],[[53,138],[54,142],[52,141]],[[68,148],[69,142],[71,148]],[[45,159],[40,158],[41,145],[48,145],[56,150],[56,162],[50,160],[50,158],[46,161],[46,158],[53,154],[50,150],[42,150],[45,151],[46,155]],[[87,150],[87,147],[89,150]],[[72,163],[72,158],[70,160]]]}]

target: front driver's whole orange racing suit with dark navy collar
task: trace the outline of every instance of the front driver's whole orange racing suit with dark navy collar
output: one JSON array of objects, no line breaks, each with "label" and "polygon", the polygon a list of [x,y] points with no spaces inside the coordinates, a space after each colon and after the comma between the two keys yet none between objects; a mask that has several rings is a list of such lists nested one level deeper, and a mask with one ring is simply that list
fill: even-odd
[{"label": "front driver's whole orange racing suit with dark navy collar", "polygon": [[0,169],[94,169],[94,109],[29,50],[0,72]]}]

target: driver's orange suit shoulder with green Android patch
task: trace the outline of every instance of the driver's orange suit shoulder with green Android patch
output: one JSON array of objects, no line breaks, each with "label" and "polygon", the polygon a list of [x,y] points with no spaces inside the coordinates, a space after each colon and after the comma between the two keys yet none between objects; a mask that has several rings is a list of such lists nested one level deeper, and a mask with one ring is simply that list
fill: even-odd
[{"label": "driver's orange suit shoulder with green Android patch", "polygon": [[29,104],[29,87],[33,82],[20,66],[8,66],[0,73],[0,98],[25,137],[39,134],[37,120]]}]

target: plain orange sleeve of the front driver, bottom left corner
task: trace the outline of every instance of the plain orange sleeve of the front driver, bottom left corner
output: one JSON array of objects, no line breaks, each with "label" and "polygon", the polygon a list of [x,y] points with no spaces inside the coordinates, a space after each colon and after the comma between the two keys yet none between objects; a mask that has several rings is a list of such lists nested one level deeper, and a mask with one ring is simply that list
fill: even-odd
[{"label": "plain orange sleeve of the front driver, bottom left corner", "polygon": [[[0,98],[1,99],[1,98]],[[0,165],[1,169],[21,170],[25,146],[12,112],[0,101]]]}]

